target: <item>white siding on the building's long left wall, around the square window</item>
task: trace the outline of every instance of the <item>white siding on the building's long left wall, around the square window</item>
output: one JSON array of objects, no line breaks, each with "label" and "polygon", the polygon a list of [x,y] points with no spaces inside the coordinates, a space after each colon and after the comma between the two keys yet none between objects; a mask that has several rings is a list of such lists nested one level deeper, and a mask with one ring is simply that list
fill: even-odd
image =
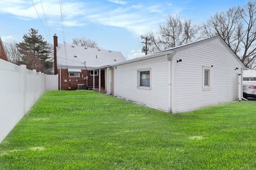
[{"label": "white siding on the building's long left wall, around the square window", "polygon": [[[138,70],[150,68],[150,90],[138,88]],[[117,65],[114,69],[114,95],[168,111],[168,60],[159,56]]]}]

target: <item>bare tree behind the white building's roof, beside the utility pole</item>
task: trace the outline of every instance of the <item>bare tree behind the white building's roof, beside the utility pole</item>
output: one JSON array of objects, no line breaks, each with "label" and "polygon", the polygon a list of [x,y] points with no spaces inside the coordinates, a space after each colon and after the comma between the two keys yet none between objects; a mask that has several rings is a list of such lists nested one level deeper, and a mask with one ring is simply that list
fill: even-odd
[{"label": "bare tree behind the white building's roof, beside the utility pole", "polygon": [[149,53],[176,47],[199,39],[200,27],[193,24],[191,20],[181,20],[179,16],[170,16],[166,24],[159,25],[156,36],[153,32],[146,34],[149,38]]}]

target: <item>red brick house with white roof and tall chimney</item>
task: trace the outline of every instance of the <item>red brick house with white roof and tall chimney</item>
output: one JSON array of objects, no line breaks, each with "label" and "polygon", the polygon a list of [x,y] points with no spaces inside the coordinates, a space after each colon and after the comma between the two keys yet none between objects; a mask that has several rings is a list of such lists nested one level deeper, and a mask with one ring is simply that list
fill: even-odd
[{"label": "red brick house with white roof and tall chimney", "polygon": [[53,36],[53,40],[54,74],[59,74],[59,89],[61,90],[76,90],[78,84],[83,84],[87,87],[98,87],[104,91],[105,70],[94,72],[90,70],[102,65],[126,61],[121,52],[58,44],[57,36]]}]

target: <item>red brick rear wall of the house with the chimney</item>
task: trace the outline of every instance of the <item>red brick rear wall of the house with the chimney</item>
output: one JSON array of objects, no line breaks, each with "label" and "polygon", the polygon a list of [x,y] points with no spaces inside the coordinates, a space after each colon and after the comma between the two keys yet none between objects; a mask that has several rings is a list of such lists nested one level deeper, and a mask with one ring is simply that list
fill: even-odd
[{"label": "red brick rear wall of the house with the chimney", "polygon": [[[101,70],[101,87],[105,87],[105,71]],[[58,74],[60,76],[60,69],[58,69]],[[84,77],[88,76],[88,87],[93,87],[93,76],[90,75],[90,71],[82,70],[80,78],[69,78],[68,70],[61,69],[61,90],[77,90],[77,84],[84,84],[86,86],[86,80]],[[67,80],[67,82],[65,82]],[[69,81],[71,80],[71,81]],[[77,80],[77,81],[76,81]],[[95,87],[99,87],[99,76],[94,76]],[[60,82],[60,80],[59,80]],[[60,84],[59,84],[60,85]],[[70,89],[69,89],[70,87]]]}]

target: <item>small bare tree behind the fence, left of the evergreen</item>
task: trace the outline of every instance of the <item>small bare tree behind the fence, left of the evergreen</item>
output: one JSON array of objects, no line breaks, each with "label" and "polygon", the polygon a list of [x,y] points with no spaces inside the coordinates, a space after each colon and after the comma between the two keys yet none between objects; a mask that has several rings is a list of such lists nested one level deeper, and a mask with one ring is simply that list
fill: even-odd
[{"label": "small bare tree behind the fence, left of the evergreen", "polygon": [[4,44],[4,48],[9,62],[20,65],[22,62],[22,58],[16,44],[17,42],[12,41],[9,44]]}]

